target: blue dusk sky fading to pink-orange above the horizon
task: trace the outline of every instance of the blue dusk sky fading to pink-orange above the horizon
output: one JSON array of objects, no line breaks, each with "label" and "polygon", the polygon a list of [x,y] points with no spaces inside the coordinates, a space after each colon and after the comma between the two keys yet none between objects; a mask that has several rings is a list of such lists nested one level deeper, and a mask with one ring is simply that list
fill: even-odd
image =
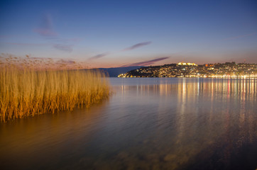
[{"label": "blue dusk sky fading to pink-orange above the horizon", "polygon": [[88,67],[257,63],[257,1],[1,1],[0,52]]}]

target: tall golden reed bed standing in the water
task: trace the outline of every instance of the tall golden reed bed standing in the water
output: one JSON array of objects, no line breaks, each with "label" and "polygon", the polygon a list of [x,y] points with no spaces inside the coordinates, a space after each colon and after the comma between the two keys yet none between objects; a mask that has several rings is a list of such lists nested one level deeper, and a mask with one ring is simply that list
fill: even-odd
[{"label": "tall golden reed bed standing in the water", "polygon": [[88,108],[108,96],[109,81],[99,71],[0,67],[0,118],[4,122]]}]

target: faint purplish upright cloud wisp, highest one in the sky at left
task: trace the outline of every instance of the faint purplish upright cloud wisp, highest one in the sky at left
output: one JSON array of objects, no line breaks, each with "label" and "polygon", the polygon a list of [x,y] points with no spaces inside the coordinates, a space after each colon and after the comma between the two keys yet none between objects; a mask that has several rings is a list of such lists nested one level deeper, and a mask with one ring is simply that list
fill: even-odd
[{"label": "faint purplish upright cloud wisp, highest one in the sky at left", "polygon": [[45,14],[42,18],[40,26],[34,29],[35,33],[42,35],[44,37],[56,37],[58,33],[53,30],[53,21],[50,14]]}]

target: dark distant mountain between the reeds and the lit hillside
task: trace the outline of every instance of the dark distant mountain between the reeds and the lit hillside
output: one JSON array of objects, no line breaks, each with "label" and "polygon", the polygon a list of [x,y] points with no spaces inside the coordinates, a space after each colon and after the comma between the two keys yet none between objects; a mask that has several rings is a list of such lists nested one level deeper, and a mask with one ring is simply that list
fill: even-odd
[{"label": "dark distant mountain between the reeds and the lit hillside", "polygon": [[100,70],[109,74],[109,77],[118,77],[119,74],[124,74],[133,69],[138,69],[143,66],[133,66],[133,67],[113,67],[113,68],[99,68]]}]

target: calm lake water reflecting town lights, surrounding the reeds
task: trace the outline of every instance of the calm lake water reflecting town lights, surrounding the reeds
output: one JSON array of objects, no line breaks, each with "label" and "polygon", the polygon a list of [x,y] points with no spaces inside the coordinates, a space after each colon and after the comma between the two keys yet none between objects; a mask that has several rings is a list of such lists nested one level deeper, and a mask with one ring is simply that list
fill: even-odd
[{"label": "calm lake water reflecting town lights, surrounding the reeds", "polygon": [[257,79],[110,83],[92,108],[1,123],[1,169],[257,168]]}]

